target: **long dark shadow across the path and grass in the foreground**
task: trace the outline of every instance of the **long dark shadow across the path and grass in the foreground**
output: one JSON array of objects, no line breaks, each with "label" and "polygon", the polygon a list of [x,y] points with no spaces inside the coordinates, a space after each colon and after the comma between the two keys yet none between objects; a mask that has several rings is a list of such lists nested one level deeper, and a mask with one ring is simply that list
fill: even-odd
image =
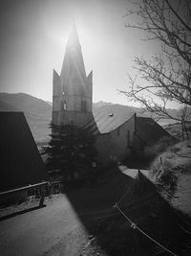
[{"label": "long dark shadow across the path and grass in the foreground", "polygon": [[[70,191],[66,195],[90,235],[81,255],[169,255],[138,229],[131,228],[115,203],[130,220],[153,239],[180,255],[190,255],[185,243],[189,236],[178,225],[177,215],[159,196],[146,177],[132,178],[116,169],[103,183]],[[180,216],[180,215],[179,215]]]}]

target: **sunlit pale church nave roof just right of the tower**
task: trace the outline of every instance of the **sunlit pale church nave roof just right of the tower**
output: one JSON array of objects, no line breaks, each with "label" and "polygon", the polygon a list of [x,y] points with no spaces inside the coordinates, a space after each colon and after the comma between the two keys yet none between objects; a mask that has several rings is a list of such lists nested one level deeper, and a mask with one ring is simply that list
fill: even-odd
[{"label": "sunlit pale church nave roof just right of the tower", "polygon": [[85,125],[92,128],[94,134],[108,133],[120,127],[134,114],[131,107],[125,105],[104,105],[94,113],[94,118]]}]

